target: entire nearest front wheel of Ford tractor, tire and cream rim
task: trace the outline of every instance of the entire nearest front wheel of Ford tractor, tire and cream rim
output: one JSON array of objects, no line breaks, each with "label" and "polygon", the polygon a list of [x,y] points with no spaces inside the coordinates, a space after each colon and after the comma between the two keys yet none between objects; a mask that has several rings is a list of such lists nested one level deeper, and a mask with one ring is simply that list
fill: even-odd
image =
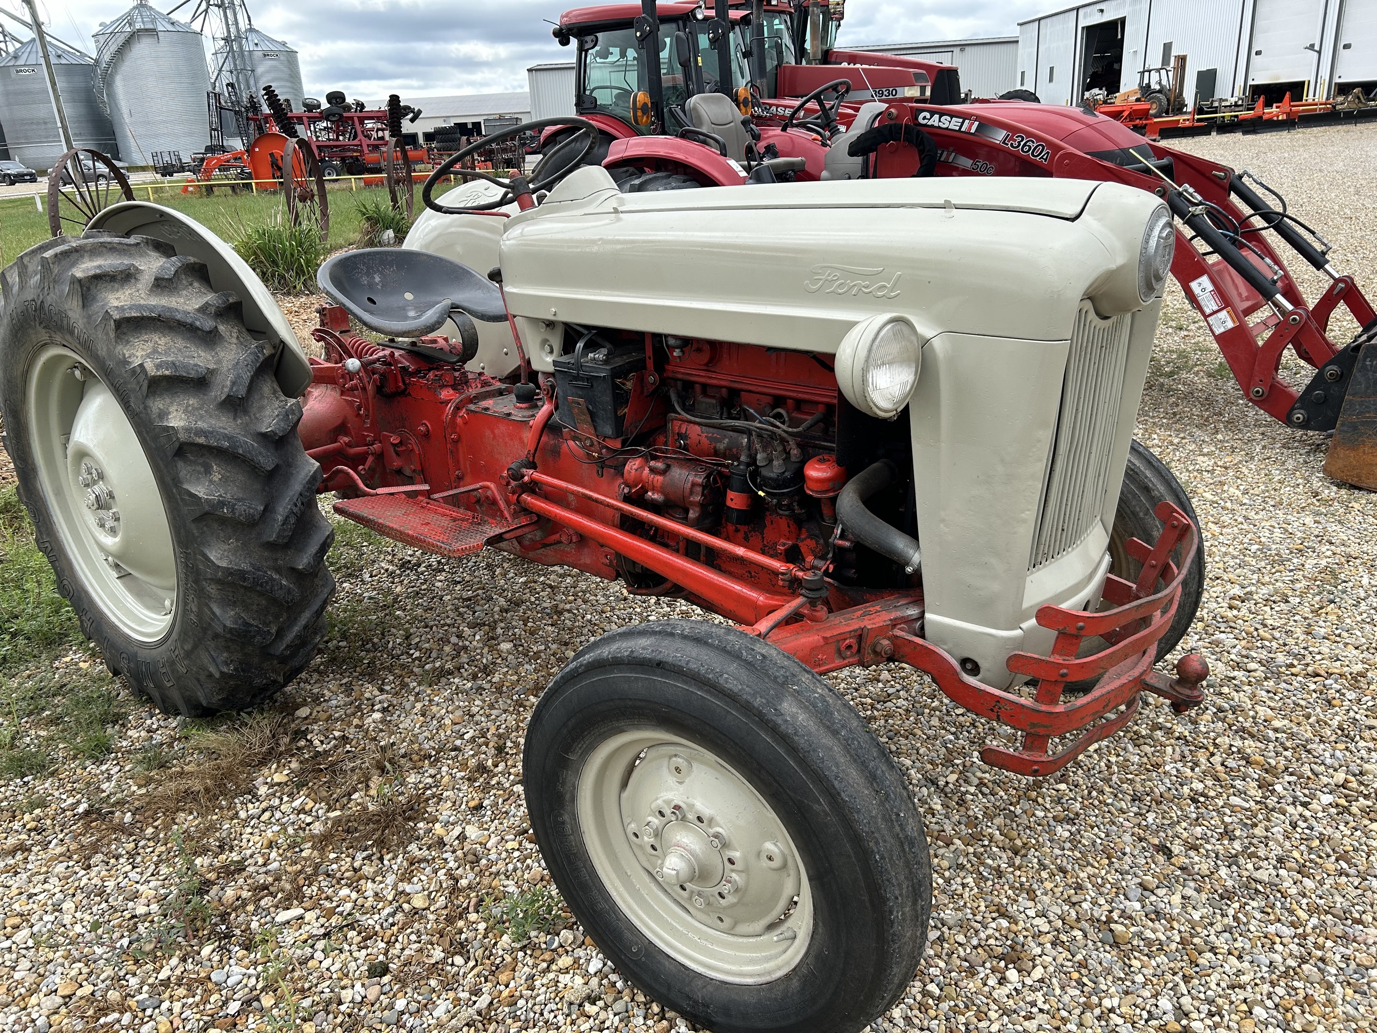
[{"label": "entire nearest front wheel of Ford tractor, tire and cream rim", "polygon": [[717,1033],[850,1033],[909,986],[932,873],[903,775],[817,674],[742,632],[605,635],[536,707],[555,883],[640,989]]}]

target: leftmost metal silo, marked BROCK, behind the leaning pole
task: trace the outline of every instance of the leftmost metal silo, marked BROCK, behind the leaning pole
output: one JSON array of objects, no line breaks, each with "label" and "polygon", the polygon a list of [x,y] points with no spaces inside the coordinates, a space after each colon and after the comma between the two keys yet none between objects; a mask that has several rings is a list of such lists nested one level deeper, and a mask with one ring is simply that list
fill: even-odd
[{"label": "leftmost metal silo, marked BROCK, behind the leaning pole", "polygon": [[[72,142],[114,157],[114,134],[95,99],[91,59],[52,39],[48,40],[48,55]],[[66,150],[37,40],[0,55],[0,124],[4,125],[11,158],[29,168],[52,168]]]}]

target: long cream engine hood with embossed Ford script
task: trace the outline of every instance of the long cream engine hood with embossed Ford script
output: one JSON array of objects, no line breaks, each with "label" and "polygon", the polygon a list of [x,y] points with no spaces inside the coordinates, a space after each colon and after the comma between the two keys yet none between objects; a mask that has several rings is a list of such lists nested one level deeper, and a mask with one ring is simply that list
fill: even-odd
[{"label": "long cream engine hood with embossed Ford script", "polygon": [[[881,179],[622,194],[582,168],[505,220],[507,304],[533,365],[559,324],[833,353],[876,313],[940,332],[1066,339],[1081,299],[1142,309],[1161,201],[1077,179]],[[496,222],[496,220],[494,220]]]}]

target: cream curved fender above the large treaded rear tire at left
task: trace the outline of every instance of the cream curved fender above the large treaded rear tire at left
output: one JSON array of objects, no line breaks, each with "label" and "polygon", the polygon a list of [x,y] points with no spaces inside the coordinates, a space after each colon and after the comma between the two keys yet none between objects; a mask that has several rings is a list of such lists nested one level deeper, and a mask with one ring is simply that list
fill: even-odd
[{"label": "cream curved fender above the large treaded rear tire at left", "polygon": [[244,328],[277,346],[277,383],[288,398],[302,395],[311,383],[311,366],[292,324],[271,292],[234,248],[189,215],[151,201],[124,201],[96,213],[88,229],[167,241],[178,255],[205,263],[211,286],[229,291],[244,304]]}]

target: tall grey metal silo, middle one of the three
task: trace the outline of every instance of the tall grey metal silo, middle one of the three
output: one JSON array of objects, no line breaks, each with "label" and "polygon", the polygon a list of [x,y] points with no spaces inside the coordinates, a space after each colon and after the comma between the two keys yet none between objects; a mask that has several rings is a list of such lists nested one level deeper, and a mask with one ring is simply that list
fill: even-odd
[{"label": "tall grey metal silo, middle one of the three", "polygon": [[153,152],[183,158],[211,142],[211,73],[201,33],[138,0],[94,36],[96,96],[110,113],[120,157],[149,165]]}]

